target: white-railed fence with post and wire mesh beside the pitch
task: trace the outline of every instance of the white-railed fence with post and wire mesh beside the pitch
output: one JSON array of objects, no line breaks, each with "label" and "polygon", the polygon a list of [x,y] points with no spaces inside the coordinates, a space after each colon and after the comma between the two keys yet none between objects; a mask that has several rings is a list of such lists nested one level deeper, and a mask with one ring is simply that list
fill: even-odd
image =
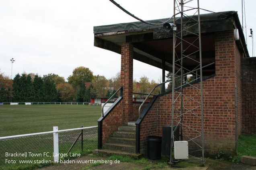
[{"label": "white-railed fence with post and wire mesh beside the pitch", "polygon": [[[76,147],[74,152],[82,152],[83,148],[85,151],[96,149],[97,127],[58,130],[58,127],[54,126],[53,131],[49,132],[0,137],[0,170],[29,168],[35,166],[34,162],[38,163],[38,161],[39,164],[59,163],[64,157],[69,156],[68,153],[78,138],[80,142],[78,146],[74,146]],[[21,157],[17,157],[17,154]]]}]

